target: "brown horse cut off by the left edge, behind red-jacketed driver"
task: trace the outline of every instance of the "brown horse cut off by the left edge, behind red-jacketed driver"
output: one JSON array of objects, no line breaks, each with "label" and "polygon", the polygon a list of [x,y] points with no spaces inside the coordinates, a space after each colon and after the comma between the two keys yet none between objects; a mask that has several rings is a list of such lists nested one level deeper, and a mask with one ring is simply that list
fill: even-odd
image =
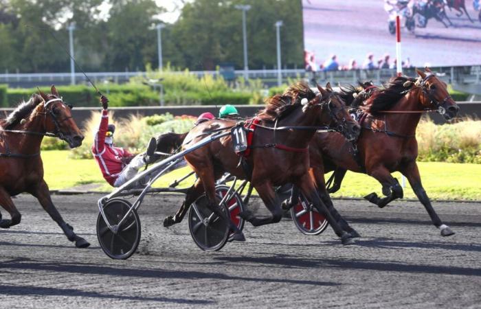
[{"label": "brown horse cut off by the left edge, behind red-jacketed driver", "polygon": [[89,242],[74,233],[74,229],[60,216],[50,198],[43,179],[40,144],[45,135],[67,141],[70,148],[78,147],[84,138],[74,119],[71,106],[67,106],[52,86],[51,94],[39,91],[27,102],[19,105],[6,119],[0,121],[0,205],[11,219],[1,219],[0,227],[7,229],[18,225],[21,214],[12,198],[22,192],[35,196],[43,209],[76,247],[89,247]]}]

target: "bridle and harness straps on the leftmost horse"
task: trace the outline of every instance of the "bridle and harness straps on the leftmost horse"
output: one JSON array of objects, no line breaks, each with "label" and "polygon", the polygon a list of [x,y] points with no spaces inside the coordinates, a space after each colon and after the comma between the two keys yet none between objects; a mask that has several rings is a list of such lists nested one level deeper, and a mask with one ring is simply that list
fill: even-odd
[{"label": "bridle and harness straps on the leftmost horse", "polygon": [[[5,153],[0,152],[0,157],[31,158],[31,157],[36,157],[36,156],[40,155],[40,152],[34,153],[32,155],[16,154],[16,153],[10,152],[10,148],[8,147],[8,143],[5,139],[5,137],[3,137],[3,133],[16,133],[16,134],[26,134],[26,135],[58,137],[59,139],[65,140],[65,135],[60,130],[60,124],[62,122],[65,122],[68,119],[71,119],[72,116],[65,117],[65,118],[59,120],[55,116],[55,113],[54,113],[53,109],[47,108],[50,103],[59,102],[59,101],[63,103],[62,98],[54,98],[52,100],[48,100],[47,102],[45,102],[45,100],[43,100],[44,112],[43,113],[37,113],[38,115],[45,115],[45,117],[47,117],[47,115],[50,115],[52,117],[52,120],[53,120],[54,126],[55,126],[55,130],[54,130],[53,133],[52,132],[37,132],[37,131],[30,131],[30,130],[5,130],[3,128],[0,128],[0,135],[2,136],[3,141],[5,141],[5,150],[6,150]],[[63,103],[63,104],[66,105],[65,103]],[[72,108],[71,105],[67,105],[67,106],[70,109]]]}]

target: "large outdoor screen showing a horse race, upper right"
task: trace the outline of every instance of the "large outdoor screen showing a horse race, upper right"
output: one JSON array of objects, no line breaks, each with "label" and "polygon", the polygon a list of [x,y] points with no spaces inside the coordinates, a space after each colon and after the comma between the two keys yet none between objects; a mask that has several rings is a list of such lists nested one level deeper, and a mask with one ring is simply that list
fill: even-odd
[{"label": "large outdoor screen showing a horse race, upper right", "polygon": [[481,0],[302,0],[306,69],[481,65]]}]

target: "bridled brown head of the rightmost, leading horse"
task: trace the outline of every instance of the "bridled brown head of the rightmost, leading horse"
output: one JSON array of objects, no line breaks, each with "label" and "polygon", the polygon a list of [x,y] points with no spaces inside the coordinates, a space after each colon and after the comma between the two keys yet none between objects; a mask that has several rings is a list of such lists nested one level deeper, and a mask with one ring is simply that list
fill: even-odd
[{"label": "bridled brown head of the rightmost, leading horse", "polygon": [[416,69],[416,72],[419,76],[416,86],[421,89],[421,104],[427,108],[437,109],[438,113],[443,115],[446,120],[456,117],[460,108],[449,95],[447,84],[427,67],[425,72],[418,69]]}]

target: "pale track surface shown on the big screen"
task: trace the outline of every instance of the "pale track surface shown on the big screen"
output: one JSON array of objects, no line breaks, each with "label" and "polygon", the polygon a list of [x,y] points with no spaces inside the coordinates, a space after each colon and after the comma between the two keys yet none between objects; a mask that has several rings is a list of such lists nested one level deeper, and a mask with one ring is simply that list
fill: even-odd
[{"label": "pale track surface shown on the big screen", "polygon": [[[391,63],[396,57],[396,36],[388,32],[388,12],[383,0],[303,0],[304,48],[315,52],[318,64],[332,54],[341,65],[351,58],[361,66],[368,53],[374,60],[390,54]],[[446,28],[429,19],[427,27],[416,27],[414,33],[401,30],[402,58],[411,64],[424,67],[450,65],[479,65],[481,63],[481,23],[471,0],[466,7],[473,19],[465,14],[457,17],[447,9],[454,24]]]}]

